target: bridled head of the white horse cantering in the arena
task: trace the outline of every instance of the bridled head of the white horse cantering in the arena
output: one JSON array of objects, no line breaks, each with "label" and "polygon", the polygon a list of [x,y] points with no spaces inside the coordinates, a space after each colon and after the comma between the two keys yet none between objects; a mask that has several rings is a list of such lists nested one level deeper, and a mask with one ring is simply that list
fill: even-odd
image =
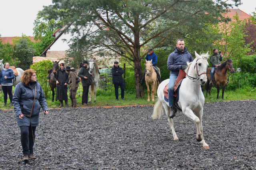
[{"label": "bridled head of the white horse cantering in the arena", "polygon": [[186,71],[190,79],[196,79],[200,85],[204,85],[207,82],[206,71],[209,65],[207,61],[209,54],[207,52],[206,54],[199,55],[195,51],[195,55],[196,58],[192,63],[188,63],[188,68]]}]

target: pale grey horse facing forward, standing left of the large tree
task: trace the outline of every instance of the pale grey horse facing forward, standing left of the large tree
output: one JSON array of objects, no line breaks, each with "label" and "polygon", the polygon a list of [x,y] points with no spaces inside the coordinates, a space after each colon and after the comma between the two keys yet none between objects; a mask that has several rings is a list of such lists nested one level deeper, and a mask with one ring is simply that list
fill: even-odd
[{"label": "pale grey horse facing forward, standing left of the large tree", "polygon": [[100,79],[100,74],[99,74],[99,68],[98,65],[96,63],[96,59],[92,58],[89,61],[89,73],[93,73],[92,74],[92,85],[89,86],[89,102],[91,103],[92,100],[92,95],[94,94],[94,102],[96,102],[96,92],[97,92],[97,86],[99,83],[99,79]]}]

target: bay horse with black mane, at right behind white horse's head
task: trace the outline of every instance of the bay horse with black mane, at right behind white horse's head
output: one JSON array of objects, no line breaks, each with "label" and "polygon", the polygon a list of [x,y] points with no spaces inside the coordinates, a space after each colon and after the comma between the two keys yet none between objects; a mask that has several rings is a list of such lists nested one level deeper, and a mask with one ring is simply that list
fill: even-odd
[{"label": "bay horse with black mane, at right behind white horse's head", "polygon": [[[209,71],[211,67],[207,69],[207,78],[208,82],[206,83],[206,96],[207,92],[211,95],[212,85],[210,84],[210,75]],[[224,100],[224,90],[227,84],[227,71],[230,70],[231,73],[234,73],[233,62],[231,59],[224,61],[218,68],[215,69],[215,73],[212,76],[212,82],[217,86],[217,99],[219,99],[220,84],[222,85],[222,100]]]}]

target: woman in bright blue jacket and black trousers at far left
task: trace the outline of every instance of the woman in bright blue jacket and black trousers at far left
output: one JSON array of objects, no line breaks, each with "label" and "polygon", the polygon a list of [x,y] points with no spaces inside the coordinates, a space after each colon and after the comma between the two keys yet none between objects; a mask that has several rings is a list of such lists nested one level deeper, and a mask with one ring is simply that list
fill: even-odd
[{"label": "woman in bright blue jacket and black trousers at far left", "polygon": [[12,106],[12,80],[14,79],[14,73],[11,68],[9,68],[9,63],[4,63],[4,69],[0,73],[0,87],[2,87],[4,92],[4,104],[7,103],[7,94],[9,94],[10,105]]}]

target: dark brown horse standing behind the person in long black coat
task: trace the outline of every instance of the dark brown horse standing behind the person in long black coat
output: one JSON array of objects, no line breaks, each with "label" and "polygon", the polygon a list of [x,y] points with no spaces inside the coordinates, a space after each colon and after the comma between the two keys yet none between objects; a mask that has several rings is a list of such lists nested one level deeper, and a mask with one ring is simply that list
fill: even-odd
[{"label": "dark brown horse standing behind the person in long black coat", "polygon": [[[59,69],[59,62],[60,61],[52,61],[52,68],[48,70],[48,74],[50,74],[50,77],[49,77],[49,86],[52,90],[52,102],[54,102],[54,95],[55,95],[55,92],[54,92],[54,88],[56,88],[56,78],[54,78],[54,75],[55,77],[57,77],[57,71]],[[57,100],[56,100],[57,101]]]}]

